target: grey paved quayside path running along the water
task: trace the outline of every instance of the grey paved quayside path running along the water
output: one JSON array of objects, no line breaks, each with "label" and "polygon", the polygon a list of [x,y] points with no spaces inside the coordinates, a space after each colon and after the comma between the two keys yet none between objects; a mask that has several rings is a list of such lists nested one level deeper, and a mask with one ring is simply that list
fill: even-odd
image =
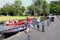
[{"label": "grey paved quayside path running along the water", "polygon": [[[49,27],[45,24],[45,32],[32,30],[30,33],[30,40],[60,40],[60,19],[56,18],[54,23],[51,23]],[[27,40],[27,34],[24,32],[19,32],[18,34],[7,38],[5,40]]]}]

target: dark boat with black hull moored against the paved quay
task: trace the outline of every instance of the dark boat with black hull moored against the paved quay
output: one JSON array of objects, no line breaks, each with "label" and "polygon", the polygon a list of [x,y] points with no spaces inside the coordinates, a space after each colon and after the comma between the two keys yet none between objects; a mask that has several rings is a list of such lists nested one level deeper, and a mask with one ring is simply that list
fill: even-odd
[{"label": "dark boat with black hull moored against the paved quay", "polygon": [[13,35],[17,34],[18,32],[22,32],[24,30],[26,30],[26,28],[21,28],[20,29],[20,27],[16,27],[16,28],[4,30],[3,35],[4,35],[4,38],[8,38],[10,36],[13,36]]}]

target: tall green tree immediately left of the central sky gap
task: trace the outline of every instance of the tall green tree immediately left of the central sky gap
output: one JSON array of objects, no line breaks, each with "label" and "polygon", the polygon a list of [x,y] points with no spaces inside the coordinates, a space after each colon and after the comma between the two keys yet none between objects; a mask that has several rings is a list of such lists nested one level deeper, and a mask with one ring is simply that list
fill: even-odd
[{"label": "tall green tree immediately left of the central sky gap", "polygon": [[14,14],[18,15],[18,16],[23,15],[23,13],[25,11],[25,7],[22,6],[21,0],[15,0],[15,2],[13,4],[13,9],[14,9]]}]

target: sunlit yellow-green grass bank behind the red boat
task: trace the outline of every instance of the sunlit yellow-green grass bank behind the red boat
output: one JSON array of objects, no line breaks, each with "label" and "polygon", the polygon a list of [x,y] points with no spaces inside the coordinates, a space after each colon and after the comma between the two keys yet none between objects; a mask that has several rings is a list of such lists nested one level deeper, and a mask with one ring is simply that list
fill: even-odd
[{"label": "sunlit yellow-green grass bank behind the red boat", "polygon": [[[15,19],[26,19],[27,16],[0,16],[0,22],[5,22],[7,20],[15,20]],[[34,16],[31,16],[31,18],[33,18]]]}]

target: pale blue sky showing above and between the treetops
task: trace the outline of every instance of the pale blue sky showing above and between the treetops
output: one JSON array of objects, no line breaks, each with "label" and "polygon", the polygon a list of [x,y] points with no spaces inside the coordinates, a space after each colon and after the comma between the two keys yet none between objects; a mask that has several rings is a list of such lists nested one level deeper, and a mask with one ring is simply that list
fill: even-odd
[{"label": "pale blue sky showing above and between the treetops", "polygon": [[[0,7],[3,7],[3,5],[5,5],[6,3],[9,3],[9,4],[14,3],[14,1],[15,0],[0,0]],[[27,7],[33,3],[32,0],[21,0],[21,1],[23,3],[22,5],[25,7]],[[50,1],[52,1],[52,0],[47,0],[48,3]]]}]

